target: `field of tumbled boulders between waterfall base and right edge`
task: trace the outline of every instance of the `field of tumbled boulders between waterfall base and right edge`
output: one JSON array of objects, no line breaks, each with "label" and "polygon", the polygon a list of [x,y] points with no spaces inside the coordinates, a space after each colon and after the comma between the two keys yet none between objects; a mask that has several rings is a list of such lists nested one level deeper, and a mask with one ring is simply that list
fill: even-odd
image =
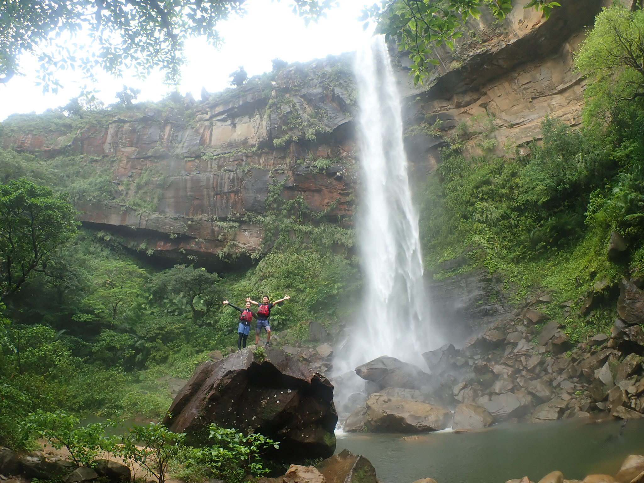
[{"label": "field of tumbled boulders between waterfall base and right edge", "polygon": [[424,353],[427,372],[393,357],[359,366],[365,390],[340,405],[344,430],[475,430],[497,422],[644,417],[641,287],[640,279],[624,278],[561,303],[564,314],[573,305],[589,313],[608,292],[617,299],[611,330],[575,343],[547,315],[551,294],[540,294],[460,347]]}]

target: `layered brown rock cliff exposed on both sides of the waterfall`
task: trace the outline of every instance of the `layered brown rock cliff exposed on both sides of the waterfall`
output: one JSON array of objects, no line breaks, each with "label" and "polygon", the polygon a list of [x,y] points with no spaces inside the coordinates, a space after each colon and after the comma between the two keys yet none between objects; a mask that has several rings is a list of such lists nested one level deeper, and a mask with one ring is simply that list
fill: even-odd
[{"label": "layered brown rock cliff exposed on both sides of the waterfall", "polygon": [[[561,0],[547,20],[527,3],[515,0],[500,23],[489,15],[471,21],[453,52],[437,52],[441,64],[424,86],[412,86],[409,59],[396,57],[412,179],[422,182],[448,143],[470,156],[511,155],[540,138],[547,115],[580,123],[584,81],[573,52],[605,0]],[[171,261],[260,254],[261,216],[274,194],[301,196],[312,211],[351,225],[359,171],[348,57],[202,96],[122,110],[71,131],[14,131],[0,145],[48,158],[80,154],[106,169],[116,194],[79,202],[81,220]],[[433,283],[432,298],[440,318],[484,327],[511,310],[486,302],[494,291],[470,272]]]}]

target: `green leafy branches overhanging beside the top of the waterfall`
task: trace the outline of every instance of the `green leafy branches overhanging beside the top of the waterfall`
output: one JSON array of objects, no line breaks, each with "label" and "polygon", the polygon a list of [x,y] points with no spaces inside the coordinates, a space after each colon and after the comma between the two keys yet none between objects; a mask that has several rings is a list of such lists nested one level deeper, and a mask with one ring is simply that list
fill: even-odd
[{"label": "green leafy branches overhanging beside the top of the waterfall", "polygon": [[[531,0],[526,8],[536,8],[547,18],[559,3]],[[489,8],[497,19],[504,19],[512,10],[512,0],[388,0],[374,4],[363,12],[363,20],[373,19],[379,30],[398,43],[399,50],[410,52],[414,84],[422,83],[431,66],[434,46],[447,44],[462,36],[460,27],[468,17],[478,18],[481,8]],[[366,25],[365,25],[366,26]]]}]

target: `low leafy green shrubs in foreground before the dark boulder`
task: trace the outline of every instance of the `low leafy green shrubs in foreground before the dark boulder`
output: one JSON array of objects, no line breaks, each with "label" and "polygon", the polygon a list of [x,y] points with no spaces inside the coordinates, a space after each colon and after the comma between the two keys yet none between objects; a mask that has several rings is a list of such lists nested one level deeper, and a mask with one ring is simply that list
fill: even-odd
[{"label": "low leafy green shrubs in foreground before the dark boulder", "polygon": [[[107,428],[118,428],[115,435]],[[247,477],[267,473],[261,455],[279,445],[261,434],[243,435],[236,430],[209,426],[211,446],[193,448],[185,444],[184,433],[174,433],[163,424],[133,424],[126,430],[117,421],[82,426],[80,420],[64,411],[37,411],[27,415],[19,431],[24,437],[46,439],[53,448],[66,448],[79,466],[91,466],[99,455],[122,457],[128,466],[144,468],[158,483],[173,475],[188,482],[225,478],[242,483]]]}]

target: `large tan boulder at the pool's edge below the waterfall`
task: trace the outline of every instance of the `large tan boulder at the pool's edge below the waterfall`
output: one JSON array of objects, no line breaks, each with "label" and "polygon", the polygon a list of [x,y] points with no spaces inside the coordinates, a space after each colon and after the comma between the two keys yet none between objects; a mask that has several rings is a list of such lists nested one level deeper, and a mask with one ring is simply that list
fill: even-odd
[{"label": "large tan boulder at the pool's edge below the waterfall", "polygon": [[451,412],[375,393],[366,401],[367,424],[372,431],[439,431],[450,426]]}]

